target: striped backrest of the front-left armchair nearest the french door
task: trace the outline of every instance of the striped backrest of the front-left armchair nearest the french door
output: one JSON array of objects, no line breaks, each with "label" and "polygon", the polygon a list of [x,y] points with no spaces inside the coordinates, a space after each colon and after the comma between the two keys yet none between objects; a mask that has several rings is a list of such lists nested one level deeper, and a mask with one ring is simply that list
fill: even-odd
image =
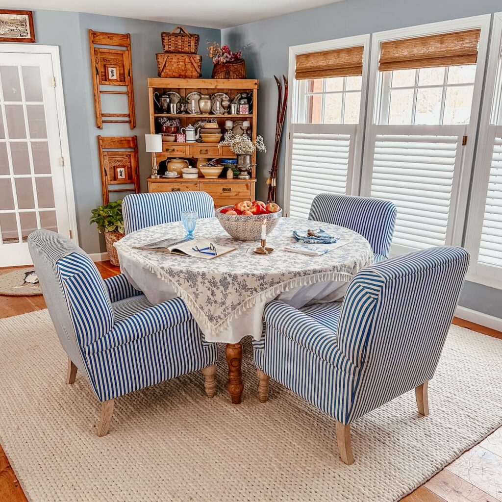
[{"label": "striped backrest of the front-left armchair nearest the french door", "polygon": [[103,280],[84,250],[59,233],[37,230],[28,246],[61,345],[85,373],[82,348],[114,322]]}]

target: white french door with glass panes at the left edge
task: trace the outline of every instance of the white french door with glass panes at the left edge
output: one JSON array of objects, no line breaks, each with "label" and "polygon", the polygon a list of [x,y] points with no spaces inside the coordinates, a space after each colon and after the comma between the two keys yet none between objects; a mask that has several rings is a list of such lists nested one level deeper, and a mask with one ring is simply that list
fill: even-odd
[{"label": "white french door with glass panes at the left edge", "polygon": [[0,47],[0,267],[32,263],[38,228],[70,235],[54,59]]}]

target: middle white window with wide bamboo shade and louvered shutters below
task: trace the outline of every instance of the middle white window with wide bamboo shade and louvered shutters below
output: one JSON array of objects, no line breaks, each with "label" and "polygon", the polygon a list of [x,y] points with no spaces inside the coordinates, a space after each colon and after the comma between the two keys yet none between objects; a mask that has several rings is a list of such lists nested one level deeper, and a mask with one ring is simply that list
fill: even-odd
[{"label": "middle white window with wide bamboo shade and louvered shutters below", "polygon": [[394,254],[461,244],[488,26],[374,35],[361,195],[396,204]]}]

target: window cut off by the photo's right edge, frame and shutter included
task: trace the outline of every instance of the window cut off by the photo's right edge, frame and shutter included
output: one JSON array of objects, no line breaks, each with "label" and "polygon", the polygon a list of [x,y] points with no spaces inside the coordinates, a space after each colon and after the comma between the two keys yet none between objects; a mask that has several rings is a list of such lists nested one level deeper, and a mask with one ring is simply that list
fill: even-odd
[{"label": "window cut off by the photo's right edge, frame and shutter included", "polygon": [[[472,183],[466,247],[469,278],[502,280],[502,13],[495,15]],[[498,284],[496,282],[498,281]]]}]

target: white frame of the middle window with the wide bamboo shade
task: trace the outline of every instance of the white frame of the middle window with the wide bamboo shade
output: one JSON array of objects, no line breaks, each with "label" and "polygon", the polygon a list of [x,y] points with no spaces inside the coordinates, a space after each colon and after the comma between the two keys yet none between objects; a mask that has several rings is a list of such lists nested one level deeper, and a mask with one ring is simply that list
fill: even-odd
[{"label": "white frame of the middle window with the wide bamboo shade", "polygon": [[[413,126],[384,126],[379,123],[380,112],[382,110],[382,100],[385,98],[383,92],[382,79],[386,72],[378,70],[380,59],[380,45],[382,42],[391,40],[400,40],[405,38],[437,35],[454,31],[462,31],[468,29],[479,28],[481,30],[478,45],[478,58],[476,64],[476,75],[474,79],[474,90],[472,95],[471,115],[468,126],[466,126],[466,136],[468,137],[467,144],[462,149],[462,164],[460,172],[455,173],[452,192],[451,192],[451,216],[448,222],[449,241],[446,244],[461,245],[463,238],[464,223],[466,221],[466,213],[469,199],[469,184],[472,171],[472,162],[474,156],[474,148],[477,138],[477,128],[479,119],[479,109],[481,103],[481,95],[484,85],[484,68],[486,62],[486,52],[488,45],[488,37],[490,33],[491,14],[474,16],[469,18],[455,19],[439,23],[431,23],[408,28],[400,28],[397,30],[388,30],[378,33],[373,33],[371,36],[371,55],[369,65],[369,83],[368,89],[375,89],[374,92],[369,92],[367,96],[367,112],[366,126],[364,134],[364,152],[361,169],[361,187],[360,195],[369,197],[371,194],[371,182],[373,171],[374,158],[374,139],[379,134],[379,127],[399,128],[400,134],[413,134],[417,131],[420,134],[419,128],[427,128],[434,130],[439,128],[437,134],[442,134],[440,128],[448,128],[450,126],[443,125],[413,125]],[[402,254],[410,252],[408,248],[393,245],[392,254]]]}]

